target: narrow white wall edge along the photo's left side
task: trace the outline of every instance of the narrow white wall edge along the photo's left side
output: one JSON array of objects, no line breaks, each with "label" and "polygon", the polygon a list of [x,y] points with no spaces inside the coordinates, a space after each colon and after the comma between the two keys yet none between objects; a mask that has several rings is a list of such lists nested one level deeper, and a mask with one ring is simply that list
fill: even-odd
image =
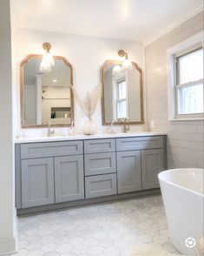
[{"label": "narrow white wall edge along the photo's left side", "polygon": [[0,255],[16,251],[10,1],[0,1]]}]

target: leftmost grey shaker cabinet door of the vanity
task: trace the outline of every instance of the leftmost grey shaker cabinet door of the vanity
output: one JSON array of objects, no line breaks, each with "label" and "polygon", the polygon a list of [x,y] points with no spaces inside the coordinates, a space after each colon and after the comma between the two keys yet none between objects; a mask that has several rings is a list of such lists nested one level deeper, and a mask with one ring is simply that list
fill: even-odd
[{"label": "leftmost grey shaker cabinet door of the vanity", "polygon": [[53,158],[22,160],[22,206],[54,203]]}]

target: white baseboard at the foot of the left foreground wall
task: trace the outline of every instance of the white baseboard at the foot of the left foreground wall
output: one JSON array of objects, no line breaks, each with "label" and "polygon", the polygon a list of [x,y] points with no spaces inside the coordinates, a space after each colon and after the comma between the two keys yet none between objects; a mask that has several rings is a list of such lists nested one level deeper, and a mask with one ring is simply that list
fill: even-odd
[{"label": "white baseboard at the foot of the left foreground wall", "polygon": [[0,255],[16,253],[16,238],[0,239]]}]

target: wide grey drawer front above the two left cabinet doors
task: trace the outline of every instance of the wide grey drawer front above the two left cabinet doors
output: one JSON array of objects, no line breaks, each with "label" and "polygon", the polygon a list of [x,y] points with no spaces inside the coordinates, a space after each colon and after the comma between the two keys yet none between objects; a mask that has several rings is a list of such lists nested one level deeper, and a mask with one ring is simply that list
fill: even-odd
[{"label": "wide grey drawer front above the two left cabinet doors", "polygon": [[46,158],[82,153],[82,141],[43,142],[21,145],[21,158]]}]

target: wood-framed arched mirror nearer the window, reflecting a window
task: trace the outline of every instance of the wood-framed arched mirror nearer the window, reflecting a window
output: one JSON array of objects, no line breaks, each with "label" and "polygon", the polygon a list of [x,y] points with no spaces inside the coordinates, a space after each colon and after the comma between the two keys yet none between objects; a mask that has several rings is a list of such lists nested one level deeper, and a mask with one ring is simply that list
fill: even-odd
[{"label": "wood-framed arched mirror nearer the window, reflecting a window", "polygon": [[122,119],[130,125],[144,124],[142,71],[134,62],[132,67],[122,71],[122,62],[115,60],[102,65],[102,125],[120,125]]}]

